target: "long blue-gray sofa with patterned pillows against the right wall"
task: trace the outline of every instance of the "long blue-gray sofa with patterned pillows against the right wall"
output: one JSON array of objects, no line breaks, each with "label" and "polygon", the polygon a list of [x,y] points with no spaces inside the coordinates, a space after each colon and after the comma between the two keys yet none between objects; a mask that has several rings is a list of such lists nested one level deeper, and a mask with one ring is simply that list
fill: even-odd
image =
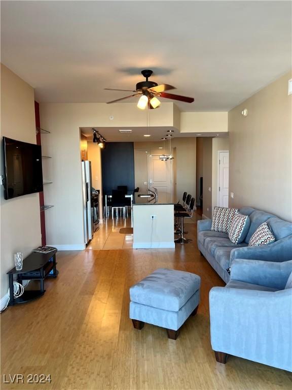
[{"label": "long blue-gray sofa with patterned pillows against the right wall", "polygon": [[[250,226],[247,236],[241,244],[233,244],[227,233],[211,231],[211,219],[198,221],[198,248],[218,275],[228,283],[230,274],[227,269],[236,258],[285,262],[292,259],[292,224],[272,214],[251,207],[239,209],[248,215]],[[267,222],[276,241],[272,244],[249,247],[248,241],[260,224]]]}]

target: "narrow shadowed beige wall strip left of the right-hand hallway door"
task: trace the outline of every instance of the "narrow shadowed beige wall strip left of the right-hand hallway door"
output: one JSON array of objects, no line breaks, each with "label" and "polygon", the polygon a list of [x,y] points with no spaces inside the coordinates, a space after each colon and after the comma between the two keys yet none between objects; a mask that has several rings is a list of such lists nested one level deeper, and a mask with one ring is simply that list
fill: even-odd
[{"label": "narrow shadowed beige wall strip left of the right-hand hallway door", "polygon": [[212,138],[210,137],[203,139],[203,216],[212,217]]}]

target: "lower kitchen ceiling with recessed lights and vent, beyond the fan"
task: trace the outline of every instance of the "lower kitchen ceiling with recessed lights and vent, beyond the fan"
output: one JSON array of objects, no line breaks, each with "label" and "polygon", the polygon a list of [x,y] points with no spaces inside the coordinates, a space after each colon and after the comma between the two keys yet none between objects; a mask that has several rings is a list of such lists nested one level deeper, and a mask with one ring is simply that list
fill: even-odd
[{"label": "lower kitchen ceiling with recessed lights and vent, beyond the fan", "polygon": [[[161,141],[167,130],[173,130],[173,138],[185,137],[228,137],[228,133],[179,133],[174,127],[94,127],[107,142],[153,142]],[[131,129],[132,133],[120,133],[119,129]],[[92,127],[81,127],[81,132],[91,141],[93,139]],[[144,134],[150,137],[144,137]],[[199,134],[199,135],[198,135]],[[218,135],[217,135],[218,134]]]}]

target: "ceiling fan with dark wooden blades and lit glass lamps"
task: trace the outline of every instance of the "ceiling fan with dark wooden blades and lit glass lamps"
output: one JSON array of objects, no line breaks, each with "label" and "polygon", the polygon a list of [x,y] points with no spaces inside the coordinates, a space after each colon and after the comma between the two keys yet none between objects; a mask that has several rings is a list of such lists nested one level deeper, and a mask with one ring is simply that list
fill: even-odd
[{"label": "ceiling fan with dark wooden blades and lit glass lamps", "polygon": [[133,96],[140,96],[137,107],[141,110],[144,110],[146,107],[150,109],[158,108],[160,106],[160,101],[158,98],[166,98],[179,100],[180,102],[193,103],[193,98],[188,98],[187,96],[175,95],[173,93],[167,93],[170,89],[175,89],[172,85],[169,84],[160,84],[158,85],[154,81],[149,81],[148,78],[152,75],[153,71],[145,69],[141,71],[141,74],[145,77],[146,81],[140,81],[136,84],[136,90],[131,89],[113,89],[113,88],[104,88],[109,91],[129,91],[135,92],[132,95],[125,96],[124,98],[112,100],[107,102],[107,104],[120,102],[121,100],[132,98]]}]

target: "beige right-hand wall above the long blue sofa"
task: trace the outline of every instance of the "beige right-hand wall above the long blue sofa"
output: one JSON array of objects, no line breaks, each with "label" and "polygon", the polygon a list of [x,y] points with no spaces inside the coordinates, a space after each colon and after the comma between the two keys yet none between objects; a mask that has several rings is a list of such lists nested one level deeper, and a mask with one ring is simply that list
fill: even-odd
[{"label": "beige right-hand wall above the long blue sofa", "polygon": [[[229,112],[231,207],[291,220],[291,96],[287,74]],[[241,115],[248,110],[247,117]]]}]

